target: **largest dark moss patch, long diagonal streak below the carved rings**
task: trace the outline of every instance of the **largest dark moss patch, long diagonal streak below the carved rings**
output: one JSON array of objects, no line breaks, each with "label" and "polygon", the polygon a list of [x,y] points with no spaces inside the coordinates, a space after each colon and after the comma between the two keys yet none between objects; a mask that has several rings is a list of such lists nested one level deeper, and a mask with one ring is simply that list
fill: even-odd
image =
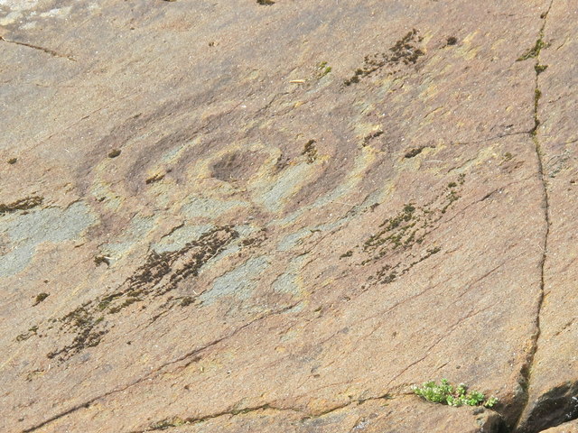
[{"label": "largest dark moss patch, long diagonal streak below the carved rings", "polygon": [[[231,226],[219,226],[201,235],[199,239],[185,244],[181,250],[149,253],[144,264],[117,290],[85,302],[60,319],[55,319],[53,323],[42,325],[48,332],[55,323],[59,323],[60,327],[53,332],[57,332],[61,337],[73,336],[68,345],[51,351],[47,356],[64,362],[88,347],[97,346],[114,326],[111,321],[115,314],[136,303],[161,297],[176,289],[181,281],[197,276],[205,263],[237,237],[238,233]],[[162,309],[172,309],[179,301],[181,305],[186,304],[188,301],[185,299],[169,296]],[[144,306],[135,311],[142,309]],[[38,329],[39,326],[29,329],[27,333],[17,336],[16,340],[23,341],[37,335]]]}]

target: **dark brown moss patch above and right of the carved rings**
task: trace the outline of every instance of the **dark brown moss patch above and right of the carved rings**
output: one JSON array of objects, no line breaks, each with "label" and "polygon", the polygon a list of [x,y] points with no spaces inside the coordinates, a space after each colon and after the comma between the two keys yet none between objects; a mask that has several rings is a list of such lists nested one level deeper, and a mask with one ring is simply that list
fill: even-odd
[{"label": "dark brown moss patch above and right of the carved rings", "polygon": [[[418,43],[424,38],[418,36],[417,30],[413,29],[406,33],[399,41],[389,48],[387,52],[376,53],[365,57],[363,66],[355,70],[350,78],[343,81],[344,86],[350,86],[359,83],[360,78],[368,77],[379,69],[385,67],[396,67],[397,65],[413,65],[425,53],[418,48]],[[394,73],[395,71],[392,71]]]}]

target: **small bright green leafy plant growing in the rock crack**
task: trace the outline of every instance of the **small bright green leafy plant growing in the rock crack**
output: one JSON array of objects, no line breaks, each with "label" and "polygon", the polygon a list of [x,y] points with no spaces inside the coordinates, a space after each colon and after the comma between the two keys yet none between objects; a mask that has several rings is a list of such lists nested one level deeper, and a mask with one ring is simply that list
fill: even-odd
[{"label": "small bright green leafy plant growing in the rock crack", "polygon": [[486,396],[478,391],[468,392],[468,387],[460,383],[453,386],[447,379],[442,379],[438,385],[434,381],[425,382],[423,386],[412,387],[415,394],[433,403],[447,404],[449,406],[484,406],[491,408],[498,403],[498,399]]}]

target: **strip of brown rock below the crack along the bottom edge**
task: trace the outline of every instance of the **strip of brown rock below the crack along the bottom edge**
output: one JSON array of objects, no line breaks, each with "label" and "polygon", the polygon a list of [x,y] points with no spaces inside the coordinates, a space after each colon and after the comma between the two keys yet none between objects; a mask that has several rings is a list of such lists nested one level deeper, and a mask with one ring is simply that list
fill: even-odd
[{"label": "strip of brown rock below the crack along the bottom edge", "polygon": [[[90,419],[91,426],[95,423],[93,414],[87,410],[85,414]],[[78,422],[78,421],[77,421]],[[98,422],[98,421],[97,421]],[[473,433],[480,431],[499,431],[501,419],[491,410],[480,408],[449,408],[439,405],[415,404],[413,397],[401,397],[393,400],[388,398],[365,401],[362,404],[353,403],[344,408],[329,413],[306,417],[294,410],[278,410],[270,407],[255,408],[239,413],[223,413],[208,419],[186,419],[173,416],[165,419],[155,419],[144,431],[163,430],[171,428],[176,433],[200,432],[334,432],[363,431],[365,433],[422,431],[427,426],[428,431],[460,431]],[[75,429],[72,419],[62,419],[55,423],[54,428],[61,431]],[[143,430],[137,430],[143,431]]]}]

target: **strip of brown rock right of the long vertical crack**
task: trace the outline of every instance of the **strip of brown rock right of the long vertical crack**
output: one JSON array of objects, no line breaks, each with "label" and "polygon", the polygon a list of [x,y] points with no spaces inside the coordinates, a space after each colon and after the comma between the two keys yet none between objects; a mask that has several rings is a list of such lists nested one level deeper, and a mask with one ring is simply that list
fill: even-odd
[{"label": "strip of brown rock right of the long vertical crack", "polygon": [[553,2],[541,37],[546,46],[536,59],[528,60],[547,66],[536,74],[536,143],[542,152],[549,231],[540,334],[527,410],[521,419],[522,431],[536,431],[578,418],[578,250],[575,219],[571,216],[572,209],[578,206],[578,132],[568,123],[576,108],[578,75],[574,53],[578,32],[567,25],[577,14],[578,7],[572,2]]}]

